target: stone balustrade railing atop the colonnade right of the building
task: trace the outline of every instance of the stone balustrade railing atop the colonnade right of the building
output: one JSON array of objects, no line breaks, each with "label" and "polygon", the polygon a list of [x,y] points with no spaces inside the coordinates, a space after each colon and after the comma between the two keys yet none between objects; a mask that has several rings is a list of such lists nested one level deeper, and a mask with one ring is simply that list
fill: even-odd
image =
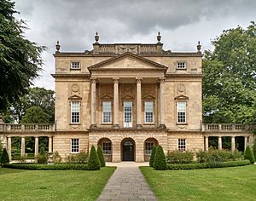
[{"label": "stone balustrade railing atop the colonnade right of the building", "polygon": [[216,132],[216,131],[224,131],[224,132],[243,132],[252,130],[254,128],[253,125],[241,124],[241,123],[203,123],[202,131],[205,132]]}]

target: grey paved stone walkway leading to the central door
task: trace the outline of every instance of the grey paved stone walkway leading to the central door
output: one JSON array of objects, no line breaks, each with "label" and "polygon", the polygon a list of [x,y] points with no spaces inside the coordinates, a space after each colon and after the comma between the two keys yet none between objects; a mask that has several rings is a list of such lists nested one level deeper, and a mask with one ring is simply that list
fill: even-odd
[{"label": "grey paved stone walkway leading to the central door", "polygon": [[107,163],[107,166],[117,166],[108,184],[97,201],[156,201],[138,166],[148,166],[148,163]]}]

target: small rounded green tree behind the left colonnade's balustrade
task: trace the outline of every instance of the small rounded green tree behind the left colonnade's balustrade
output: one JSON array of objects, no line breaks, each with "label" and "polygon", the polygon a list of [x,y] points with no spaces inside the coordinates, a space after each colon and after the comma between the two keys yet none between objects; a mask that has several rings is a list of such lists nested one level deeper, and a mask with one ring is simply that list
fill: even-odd
[{"label": "small rounded green tree behind the left colonnade's balustrade", "polygon": [[20,123],[49,123],[49,116],[41,107],[32,106],[26,110]]}]

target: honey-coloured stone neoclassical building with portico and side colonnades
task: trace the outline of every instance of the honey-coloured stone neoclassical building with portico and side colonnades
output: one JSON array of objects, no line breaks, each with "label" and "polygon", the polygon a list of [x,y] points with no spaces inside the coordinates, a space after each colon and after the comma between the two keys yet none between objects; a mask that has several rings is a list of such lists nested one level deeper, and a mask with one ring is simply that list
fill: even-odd
[{"label": "honey-coloured stone neoclassical building with portico and side colonnades", "polygon": [[[101,145],[107,161],[148,161],[155,145],[170,150],[208,149],[208,137],[253,137],[245,125],[202,124],[201,45],[195,52],[164,50],[156,43],[99,43],[84,52],[55,51],[55,124],[1,124],[4,146],[11,137],[49,136],[49,152],[62,158]],[[2,127],[1,127],[2,126]]]}]

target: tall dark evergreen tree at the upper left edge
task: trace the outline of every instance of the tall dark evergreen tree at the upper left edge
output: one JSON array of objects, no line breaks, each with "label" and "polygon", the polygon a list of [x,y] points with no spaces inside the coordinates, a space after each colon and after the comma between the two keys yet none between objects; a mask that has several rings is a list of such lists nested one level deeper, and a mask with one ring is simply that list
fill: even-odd
[{"label": "tall dark evergreen tree at the upper left edge", "polygon": [[0,112],[26,94],[43,65],[45,48],[24,37],[26,23],[15,14],[15,3],[0,2]]}]

